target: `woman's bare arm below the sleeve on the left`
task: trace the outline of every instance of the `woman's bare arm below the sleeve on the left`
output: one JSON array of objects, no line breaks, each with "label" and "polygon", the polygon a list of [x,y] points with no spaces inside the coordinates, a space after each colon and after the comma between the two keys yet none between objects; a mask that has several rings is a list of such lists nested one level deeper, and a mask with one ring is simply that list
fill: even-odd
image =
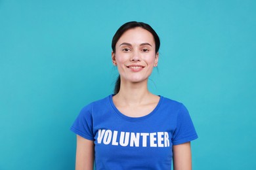
[{"label": "woman's bare arm below the sleeve on the left", "polygon": [[77,135],[75,170],[93,170],[94,143]]}]

